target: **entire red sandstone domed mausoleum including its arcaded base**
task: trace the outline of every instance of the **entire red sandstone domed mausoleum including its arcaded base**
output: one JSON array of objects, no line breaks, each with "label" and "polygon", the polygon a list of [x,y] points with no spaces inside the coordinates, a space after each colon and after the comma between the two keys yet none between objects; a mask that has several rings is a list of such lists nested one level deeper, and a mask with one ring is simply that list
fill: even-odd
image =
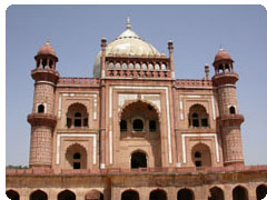
[{"label": "entire red sandstone domed mausoleum including its arcaded base", "polygon": [[245,167],[234,60],[222,49],[201,80],[175,79],[169,57],[127,30],[107,44],[95,78],[62,78],[38,51],[30,169],[7,170],[11,199],[256,200],[267,167]]}]

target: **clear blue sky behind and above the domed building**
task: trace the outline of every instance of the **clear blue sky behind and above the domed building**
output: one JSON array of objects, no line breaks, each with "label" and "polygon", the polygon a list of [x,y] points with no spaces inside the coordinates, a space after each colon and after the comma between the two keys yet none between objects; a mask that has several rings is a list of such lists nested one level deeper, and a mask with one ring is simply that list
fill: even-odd
[{"label": "clear blue sky behind and above the domed building", "polygon": [[202,79],[220,44],[235,60],[246,164],[267,164],[267,12],[260,6],[11,6],[7,10],[7,164],[28,164],[34,54],[49,38],[61,77],[92,77],[100,40],[132,30],[168,53],[177,79]]}]

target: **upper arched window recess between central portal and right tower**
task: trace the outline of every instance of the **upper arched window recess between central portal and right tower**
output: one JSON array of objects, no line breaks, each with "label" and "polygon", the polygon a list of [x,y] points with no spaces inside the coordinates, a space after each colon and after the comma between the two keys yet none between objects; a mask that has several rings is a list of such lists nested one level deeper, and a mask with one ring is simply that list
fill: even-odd
[{"label": "upper arched window recess between central portal and right tower", "polygon": [[200,104],[195,104],[189,109],[189,127],[209,127],[208,113],[205,107]]}]

